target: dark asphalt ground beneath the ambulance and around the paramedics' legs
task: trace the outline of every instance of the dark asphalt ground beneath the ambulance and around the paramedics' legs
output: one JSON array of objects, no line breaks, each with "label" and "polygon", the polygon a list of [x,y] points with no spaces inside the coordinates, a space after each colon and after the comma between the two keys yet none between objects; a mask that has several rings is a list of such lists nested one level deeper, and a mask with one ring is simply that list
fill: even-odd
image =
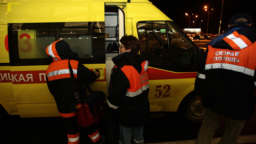
[{"label": "dark asphalt ground beneath the ambulance and around the paramedics' legs", "polygon": [[[108,136],[108,119],[99,124],[99,131]],[[201,123],[185,120],[179,113],[167,113],[162,117],[151,118],[144,126],[145,144],[192,144]],[[0,117],[1,144],[66,144],[67,134],[60,117],[20,118]],[[224,117],[220,116],[220,127],[213,139],[215,144],[222,137],[225,128]],[[107,137],[108,138],[108,137]],[[89,144],[89,138],[81,129],[81,144]],[[239,144],[256,144],[256,115],[247,120],[240,133]],[[104,144],[108,144],[106,141]]]}]

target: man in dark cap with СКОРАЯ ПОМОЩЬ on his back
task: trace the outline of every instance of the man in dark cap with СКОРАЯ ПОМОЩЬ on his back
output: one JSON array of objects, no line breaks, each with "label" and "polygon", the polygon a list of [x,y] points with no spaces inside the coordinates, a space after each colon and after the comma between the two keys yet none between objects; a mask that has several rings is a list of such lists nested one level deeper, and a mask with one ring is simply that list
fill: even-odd
[{"label": "man in dark cap with \u0421\u041a\u041e\u0420\u0410\u042f \u041f\u041e\u041c\u041e\u0429\u042c on his back", "polygon": [[225,33],[208,43],[194,87],[205,107],[196,144],[211,143],[219,114],[226,126],[218,144],[236,144],[245,120],[254,115],[256,29],[251,25],[249,14],[235,14]]}]

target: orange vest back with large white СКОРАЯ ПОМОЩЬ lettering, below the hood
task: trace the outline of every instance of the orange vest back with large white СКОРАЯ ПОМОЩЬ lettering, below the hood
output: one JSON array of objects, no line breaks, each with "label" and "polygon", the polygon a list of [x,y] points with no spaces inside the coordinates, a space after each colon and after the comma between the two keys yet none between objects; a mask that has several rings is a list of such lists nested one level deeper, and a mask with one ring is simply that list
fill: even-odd
[{"label": "orange vest back with large white \u0421\u041a\u041e\u0420\u0410\u042f \u041f\u041e\u041c\u041e\u0429\u042c lettering, below the hood", "polygon": [[213,48],[208,45],[205,70],[226,69],[254,76],[256,43],[241,50]]}]

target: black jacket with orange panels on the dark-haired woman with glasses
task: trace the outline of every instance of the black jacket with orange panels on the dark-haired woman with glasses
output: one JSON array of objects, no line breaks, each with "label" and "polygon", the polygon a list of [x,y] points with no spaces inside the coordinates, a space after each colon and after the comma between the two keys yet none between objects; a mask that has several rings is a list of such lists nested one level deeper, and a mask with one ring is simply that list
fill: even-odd
[{"label": "black jacket with orange panels on the dark-haired woman with glasses", "polygon": [[150,122],[148,62],[139,54],[125,52],[112,58],[107,103],[116,109],[115,118],[127,127]]}]

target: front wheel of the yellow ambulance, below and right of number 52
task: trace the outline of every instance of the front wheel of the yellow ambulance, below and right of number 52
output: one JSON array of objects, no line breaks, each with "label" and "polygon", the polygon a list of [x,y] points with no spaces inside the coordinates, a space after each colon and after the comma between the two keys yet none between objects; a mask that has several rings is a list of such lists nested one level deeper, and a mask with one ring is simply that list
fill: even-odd
[{"label": "front wheel of the yellow ambulance, below and right of number 52", "polygon": [[187,120],[196,123],[203,121],[203,103],[198,101],[194,94],[185,97],[180,109]]}]

